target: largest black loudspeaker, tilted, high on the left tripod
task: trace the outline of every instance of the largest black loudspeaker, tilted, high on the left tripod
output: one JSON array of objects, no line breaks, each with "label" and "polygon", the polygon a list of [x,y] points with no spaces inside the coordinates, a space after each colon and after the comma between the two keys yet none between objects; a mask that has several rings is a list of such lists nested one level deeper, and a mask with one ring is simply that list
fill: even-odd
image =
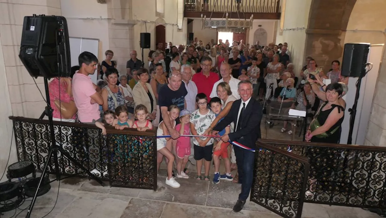
[{"label": "largest black loudspeaker, tilted, high on the left tripod", "polygon": [[70,76],[71,56],[66,19],[36,14],[24,17],[19,57],[31,76]]}]

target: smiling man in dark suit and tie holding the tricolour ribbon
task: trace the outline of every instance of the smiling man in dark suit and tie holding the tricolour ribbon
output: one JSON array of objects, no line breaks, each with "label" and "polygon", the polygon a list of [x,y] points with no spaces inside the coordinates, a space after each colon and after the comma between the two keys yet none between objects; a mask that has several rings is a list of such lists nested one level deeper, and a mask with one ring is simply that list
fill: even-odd
[{"label": "smiling man in dark suit and tie holding the tricolour ribbon", "polygon": [[[256,149],[256,140],[261,137],[260,123],[263,112],[260,103],[252,98],[252,90],[252,83],[249,80],[239,82],[237,91],[241,99],[234,101],[229,113],[213,128],[213,135],[234,122],[235,132],[223,135],[221,140],[223,142],[236,141],[251,149]],[[234,146],[234,150],[241,193],[233,211],[239,212],[251,191],[255,152],[237,146]]]}]

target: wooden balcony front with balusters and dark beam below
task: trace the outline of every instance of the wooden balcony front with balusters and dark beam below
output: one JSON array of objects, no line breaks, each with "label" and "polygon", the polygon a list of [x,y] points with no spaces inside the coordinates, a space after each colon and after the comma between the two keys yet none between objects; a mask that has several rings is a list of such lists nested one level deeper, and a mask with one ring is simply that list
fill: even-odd
[{"label": "wooden balcony front with balusters and dark beam below", "polygon": [[[269,17],[267,17],[267,19],[280,19],[280,0],[240,0],[239,5],[237,2],[239,1],[185,0],[184,13],[185,17],[201,17],[201,14],[203,14],[207,15],[207,18],[209,18],[212,14],[212,18],[225,18],[225,16],[223,16],[223,13],[228,12],[228,17],[230,19],[249,19],[252,14],[254,15],[254,19],[261,19],[260,17],[265,14],[270,15]],[[237,15],[237,11],[239,11],[239,15]]]}]

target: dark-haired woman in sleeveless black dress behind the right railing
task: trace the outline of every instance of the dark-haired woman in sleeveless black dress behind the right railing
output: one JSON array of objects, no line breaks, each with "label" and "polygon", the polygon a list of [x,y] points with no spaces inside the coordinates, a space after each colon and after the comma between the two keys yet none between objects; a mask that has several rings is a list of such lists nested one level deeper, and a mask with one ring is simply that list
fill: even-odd
[{"label": "dark-haired woman in sleeveless black dress behind the right railing", "polygon": [[[331,83],[326,87],[326,99],[315,114],[305,135],[307,142],[335,143],[340,140],[341,124],[344,119],[344,108],[339,104],[343,93],[343,87],[339,83]],[[328,147],[308,147],[307,156],[310,158],[310,188],[307,196],[328,191],[338,184],[332,175],[336,175],[339,169],[334,162],[339,155],[334,154]]]}]

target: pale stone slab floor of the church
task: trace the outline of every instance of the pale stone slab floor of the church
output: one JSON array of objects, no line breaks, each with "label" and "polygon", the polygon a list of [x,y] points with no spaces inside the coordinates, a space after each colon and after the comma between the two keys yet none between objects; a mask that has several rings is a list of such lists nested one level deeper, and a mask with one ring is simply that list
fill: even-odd
[{"label": "pale stone slab floor of the church", "polygon": [[[261,126],[262,137],[266,138],[264,118]],[[268,139],[291,140],[291,136],[280,133],[282,124],[269,129]],[[296,137],[295,140],[301,140]],[[163,168],[163,169],[162,169]],[[178,189],[165,185],[165,166],[161,166],[158,176],[157,191],[100,186],[96,181],[68,178],[60,183],[59,197],[54,210],[48,218],[163,218],[163,217],[245,217],[279,218],[275,213],[247,201],[244,210],[234,213],[232,207],[238,198],[240,184],[221,181],[196,181],[195,166],[190,166],[191,179],[177,179],[181,183]],[[211,167],[213,175],[213,167]],[[235,173],[235,172],[232,172]],[[52,177],[54,179],[54,177]],[[51,183],[51,190],[37,198],[32,218],[41,218],[54,206],[58,194],[58,184]],[[19,208],[27,208],[30,199]],[[25,217],[27,210],[8,211],[1,218]],[[19,215],[17,215],[20,213]],[[15,216],[17,215],[17,216]],[[379,218],[380,216],[361,208],[328,206],[305,203],[302,217],[307,218]]]}]

